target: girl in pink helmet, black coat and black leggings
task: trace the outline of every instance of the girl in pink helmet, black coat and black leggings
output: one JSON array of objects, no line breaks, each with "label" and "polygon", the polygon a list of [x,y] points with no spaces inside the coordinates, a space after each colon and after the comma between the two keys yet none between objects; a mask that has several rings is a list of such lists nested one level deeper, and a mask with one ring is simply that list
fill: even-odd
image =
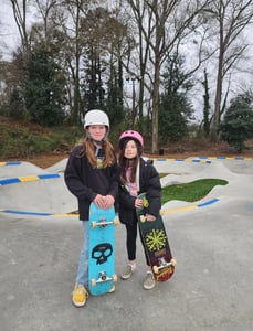
[{"label": "girl in pink helmet, black coat and black leggings", "polygon": [[[124,131],[119,137],[119,195],[118,213],[119,220],[126,226],[126,248],[128,263],[122,274],[122,279],[131,277],[136,269],[136,239],[137,239],[137,215],[136,207],[143,205],[143,201],[137,195],[146,192],[149,202],[147,221],[155,221],[161,206],[160,180],[152,162],[145,161],[141,157],[144,139],[135,130]],[[144,246],[143,237],[140,239]],[[147,263],[147,270],[144,280],[145,289],[155,287],[155,279],[149,266],[148,257],[144,247]]]}]

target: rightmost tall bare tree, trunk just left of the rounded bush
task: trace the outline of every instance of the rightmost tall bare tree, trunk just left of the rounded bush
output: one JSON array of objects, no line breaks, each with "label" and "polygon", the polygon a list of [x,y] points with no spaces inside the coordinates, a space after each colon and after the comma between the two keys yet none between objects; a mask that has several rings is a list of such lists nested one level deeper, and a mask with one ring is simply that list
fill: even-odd
[{"label": "rightmost tall bare tree, trunk just left of the rounded bush", "polygon": [[242,42],[241,36],[252,22],[253,0],[213,0],[204,12],[212,26],[217,23],[213,35],[218,35],[217,87],[210,126],[210,139],[215,142],[221,117],[223,82],[249,46]]}]

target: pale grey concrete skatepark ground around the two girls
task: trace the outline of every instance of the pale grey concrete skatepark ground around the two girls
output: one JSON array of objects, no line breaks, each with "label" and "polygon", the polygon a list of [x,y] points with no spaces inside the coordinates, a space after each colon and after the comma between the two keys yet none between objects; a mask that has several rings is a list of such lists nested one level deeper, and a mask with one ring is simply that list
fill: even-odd
[{"label": "pale grey concrete skatepark ground around the two girls", "polygon": [[[75,199],[62,172],[0,163],[0,330],[2,331],[250,331],[253,328],[253,161],[156,161],[162,185],[200,178],[228,180],[201,202],[162,206],[173,256],[173,277],[143,289],[145,260],[118,279],[116,291],[71,303],[82,245]],[[197,162],[196,162],[197,161]],[[52,179],[38,175],[57,173]],[[10,179],[18,182],[10,183]],[[9,181],[9,183],[4,182]],[[210,201],[215,203],[209,203]],[[198,207],[194,207],[198,206]],[[46,216],[44,215],[46,214]],[[126,264],[125,228],[116,227],[116,269]]]}]

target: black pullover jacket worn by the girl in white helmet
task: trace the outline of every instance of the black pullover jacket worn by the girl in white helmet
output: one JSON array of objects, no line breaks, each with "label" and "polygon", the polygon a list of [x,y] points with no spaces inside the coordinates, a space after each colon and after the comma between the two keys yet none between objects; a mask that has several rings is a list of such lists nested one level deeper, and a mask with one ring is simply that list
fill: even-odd
[{"label": "black pullover jacket worn by the girl in white helmet", "polygon": [[116,199],[118,193],[118,166],[97,169],[88,162],[86,154],[80,157],[82,147],[72,151],[64,172],[68,190],[77,197],[80,220],[88,220],[89,204],[97,194],[110,194]]}]

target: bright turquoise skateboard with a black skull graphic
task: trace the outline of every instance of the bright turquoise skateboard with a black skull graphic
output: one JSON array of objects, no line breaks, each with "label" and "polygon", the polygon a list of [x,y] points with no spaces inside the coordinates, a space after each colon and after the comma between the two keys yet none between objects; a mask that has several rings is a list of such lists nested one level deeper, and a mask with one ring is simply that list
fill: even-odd
[{"label": "bright turquoise skateboard with a black skull graphic", "polygon": [[115,275],[115,209],[89,206],[88,289],[93,296],[104,295],[117,280]]}]

